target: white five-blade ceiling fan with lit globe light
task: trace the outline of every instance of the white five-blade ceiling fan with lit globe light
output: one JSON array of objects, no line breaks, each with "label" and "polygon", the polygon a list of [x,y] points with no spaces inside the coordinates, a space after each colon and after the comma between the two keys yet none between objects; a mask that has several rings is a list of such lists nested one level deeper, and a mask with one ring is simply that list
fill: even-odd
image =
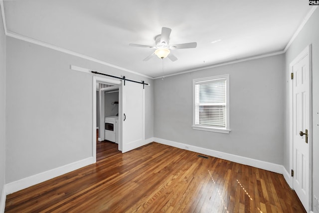
[{"label": "white five-blade ceiling fan with lit globe light", "polygon": [[169,35],[171,29],[167,27],[161,28],[161,34],[155,37],[155,46],[143,45],[143,44],[130,44],[132,47],[148,47],[156,49],[154,53],[146,57],[143,61],[148,61],[154,55],[157,55],[159,58],[169,58],[171,61],[176,61],[177,58],[170,53],[170,50],[173,49],[186,49],[186,48],[195,48],[197,46],[196,42],[184,43],[184,44],[169,44]]}]

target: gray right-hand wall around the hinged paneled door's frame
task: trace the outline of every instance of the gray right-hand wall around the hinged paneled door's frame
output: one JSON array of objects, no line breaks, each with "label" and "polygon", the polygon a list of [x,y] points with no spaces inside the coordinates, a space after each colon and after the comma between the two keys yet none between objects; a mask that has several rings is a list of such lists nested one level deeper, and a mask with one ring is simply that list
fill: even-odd
[{"label": "gray right-hand wall around the hinged paneled door's frame", "polygon": [[317,8],[310,17],[302,31],[286,52],[286,110],[285,110],[285,158],[284,166],[289,168],[289,64],[303,51],[306,46],[312,44],[313,54],[313,193],[319,198],[319,9]]}]

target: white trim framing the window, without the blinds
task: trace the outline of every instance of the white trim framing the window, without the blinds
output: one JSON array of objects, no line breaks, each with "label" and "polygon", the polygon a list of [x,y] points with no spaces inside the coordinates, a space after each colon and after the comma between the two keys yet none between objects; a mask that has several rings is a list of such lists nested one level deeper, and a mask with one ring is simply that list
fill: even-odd
[{"label": "white trim framing the window, without the blinds", "polygon": [[[195,84],[200,81],[211,81],[217,80],[221,78],[226,78],[226,127],[218,128],[218,127],[210,127],[210,126],[202,126],[195,125]],[[212,76],[207,78],[193,79],[193,123],[192,129],[195,130],[204,130],[204,131],[212,131],[212,132],[221,132],[221,133],[229,133],[230,130],[230,119],[229,119],[229,74],[221,75],[221,76]]]}]

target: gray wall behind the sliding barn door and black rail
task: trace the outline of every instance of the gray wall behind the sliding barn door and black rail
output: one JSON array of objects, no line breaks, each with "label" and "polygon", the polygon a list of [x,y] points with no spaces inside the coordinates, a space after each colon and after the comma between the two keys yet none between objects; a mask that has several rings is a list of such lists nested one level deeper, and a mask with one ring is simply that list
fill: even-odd
[{"label": "gray wall behind the sliding barn door and black rail", "polygon": [[[92,156],[92,75],[70,65],[153,80],[8,37],[6,183]],[[153,87],[146,88],[153,137]]]}]

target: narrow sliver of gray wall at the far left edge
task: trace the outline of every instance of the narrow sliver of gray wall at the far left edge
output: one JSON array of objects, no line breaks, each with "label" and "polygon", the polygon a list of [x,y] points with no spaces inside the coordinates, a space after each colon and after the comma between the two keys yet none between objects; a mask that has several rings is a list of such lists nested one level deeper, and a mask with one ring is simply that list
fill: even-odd
[{"label": "narrow sliver of gray wall at the far left edge", "polygon": [[5,35],[0,11],[0,200],[5,171]]}]

